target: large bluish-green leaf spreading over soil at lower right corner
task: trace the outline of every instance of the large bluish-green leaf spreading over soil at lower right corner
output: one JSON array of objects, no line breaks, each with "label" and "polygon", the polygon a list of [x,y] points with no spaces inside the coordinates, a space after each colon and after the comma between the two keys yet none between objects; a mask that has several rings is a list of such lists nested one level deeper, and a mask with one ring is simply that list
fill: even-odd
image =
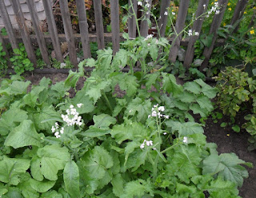
[{"label": "large bluish-green leaf spreading over soil at lower right corner", "polygon": [[225,180],[230,180],[242,187],[243,178],[248,177],[246,168],[240,164],[252,167],[252,164],[238,159],[234,153],[222,153],[221,155],[210,155],[203,160],[202,174],[214,173],[223,176]]}]

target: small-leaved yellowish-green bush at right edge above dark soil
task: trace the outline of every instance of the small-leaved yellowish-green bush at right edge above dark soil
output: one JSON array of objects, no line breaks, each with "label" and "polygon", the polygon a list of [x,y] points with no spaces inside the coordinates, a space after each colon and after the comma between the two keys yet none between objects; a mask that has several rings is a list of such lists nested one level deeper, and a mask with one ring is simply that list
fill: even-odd
[{"label": "small-leaved yellowish-green bush at right edge above dark soil", "polygon": [[[248,133],[256,135],[256,80],[243,69],[226,67],[226,71],[216,77],[218,83],[218,105],[223,113],[235,117],[238,112],[248,112],[243,125]],[[237,130],[238,131],[238,130]],[[254,137],[250,142],[254,143]],[[256,145],[251,145],[255,149]]]}]

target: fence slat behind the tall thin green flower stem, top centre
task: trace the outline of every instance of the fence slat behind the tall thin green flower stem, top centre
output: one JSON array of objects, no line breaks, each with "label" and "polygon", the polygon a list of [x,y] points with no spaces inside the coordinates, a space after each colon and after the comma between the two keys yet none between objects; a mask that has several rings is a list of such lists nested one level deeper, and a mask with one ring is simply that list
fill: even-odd
[{"label": "fence slat behind the tall thin green flower stem, top centre", "polygon": [[[129,1],[129,13],[130,14],[137,14],[137,0],[128,0]],[[133,6],[133,8],[131,7]],[[129,38],[136,38],[136,21],[134,18],[134,15],[130,16],[130,18],[128,18],[128,34],[129,34]]]}]

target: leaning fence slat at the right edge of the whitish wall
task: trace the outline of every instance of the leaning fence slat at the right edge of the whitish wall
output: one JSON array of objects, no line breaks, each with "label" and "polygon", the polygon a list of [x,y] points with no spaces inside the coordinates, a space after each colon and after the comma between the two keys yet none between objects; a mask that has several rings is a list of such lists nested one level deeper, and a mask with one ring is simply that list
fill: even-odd
[{"label": "leaning fence slat at the right edge of the whitish wall", "polygon": [[46,12],[46,21],[48,25],[48,30],[50,32],[51,42],[52,42],[52,45],[54,46],[54,53],[55,53],[56,59],[58,61],[63,62],[61,46],[58,40],[57,26],[54,20],[54,14],[53,14],[52,7],[50,5],[50,1],[43,0],[42,4]]}]

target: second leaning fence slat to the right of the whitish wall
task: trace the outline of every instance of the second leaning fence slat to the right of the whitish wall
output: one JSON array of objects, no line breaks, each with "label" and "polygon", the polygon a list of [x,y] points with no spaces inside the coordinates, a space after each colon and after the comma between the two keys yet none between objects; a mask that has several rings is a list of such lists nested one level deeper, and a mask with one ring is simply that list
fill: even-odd
[{"label": "second leaning fence slat to the right of the whitish wall", "polygon": [[62,22],[65,30],[66,42],[69,48],[70,62],[74,66],[77,66],[78,65],[77,52],[74,45],[74,35],[73,35],[67,0],[59,1],[59,6],[62,12]]}]

